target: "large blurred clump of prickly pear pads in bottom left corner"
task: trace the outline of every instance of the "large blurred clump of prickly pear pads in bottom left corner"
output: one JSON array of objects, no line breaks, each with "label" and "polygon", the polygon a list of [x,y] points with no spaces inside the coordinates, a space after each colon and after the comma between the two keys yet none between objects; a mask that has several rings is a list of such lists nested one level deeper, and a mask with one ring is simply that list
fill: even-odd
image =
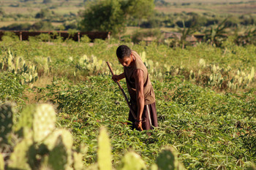
[{"label": "large blurred clump of prickly pear pads in bottom left corner", "polygon": [[[11,116],[9,116],[10,114]],[[0,115],[2,121],[0,127],[3,131],[1,134],[7,134],[5,133],[7,128],[2,127],[9,119],[12,120],[10,105],[2,105]],[[7,125],[7,127],[10,126],[8,132],[14,130],[20,136],[11,139],[14,142],[13,144],[17,144],[10,152],[8,151],[8,156],[3,158],[4,155],[0,154],[0,170],[4,168],[20,170],[83,169],[83,155],[81,152],[86,152],[86,147],[81,147],[80,152],[73,151],[72,134],[65,129],[55,130],[55,123],[56,115],[50,104],[31,105],[23,109],[17,125],[15,127]],[[4,165],[5,159],[6,165]]]}]

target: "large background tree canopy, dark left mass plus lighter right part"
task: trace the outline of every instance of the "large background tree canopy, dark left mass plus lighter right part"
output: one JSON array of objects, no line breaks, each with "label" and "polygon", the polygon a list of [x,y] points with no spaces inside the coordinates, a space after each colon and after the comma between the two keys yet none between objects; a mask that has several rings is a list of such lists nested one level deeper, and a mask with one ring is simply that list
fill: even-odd
[{"label": "large background tree canopy, dark left mass plus lighter right part", "polygon": [[96,0],[86,5],[81,22],[83,31],[110,31],[118,34],[125,30],[129,18],[141,20],[151,15],[154,0]]}]

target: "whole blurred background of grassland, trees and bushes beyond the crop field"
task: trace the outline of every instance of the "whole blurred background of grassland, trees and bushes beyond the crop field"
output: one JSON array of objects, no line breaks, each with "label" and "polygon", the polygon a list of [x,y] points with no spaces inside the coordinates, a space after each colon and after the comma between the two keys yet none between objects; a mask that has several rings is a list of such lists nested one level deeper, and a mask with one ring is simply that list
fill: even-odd
[{"label": "whole blurred background of grassland, trees and bushes beyond the crop field", "polygon": [[[12,0],[1,4],[0,23],[10,23],[0,24],[5,31],[110,31],[124,42],[155,41],[183,48],[197,42],[221,47],[229,36],[237,45],[256,44],[255,1]],[[198,40],[194,35],[202,37]]]}]

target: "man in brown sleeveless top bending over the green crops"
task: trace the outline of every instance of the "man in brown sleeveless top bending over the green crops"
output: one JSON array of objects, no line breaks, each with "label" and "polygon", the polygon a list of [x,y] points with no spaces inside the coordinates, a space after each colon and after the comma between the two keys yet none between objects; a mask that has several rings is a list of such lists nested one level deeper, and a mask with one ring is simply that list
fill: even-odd
[{"label": "man in brown sleeveless top bending over the green crops", "polygon": [[136,119],[129,112],[128,120],[132,122],[132,129],[145,130],[157,127],[157,110],[155,104],[155,94],[148,77],[148,70],[138,53],[131,50],[126,45],[121,45],[116,50],[119,63],[124,66],[124,72],[113,75],[114,81],[126,79],[130,96],[130,104],[136,114]]}]

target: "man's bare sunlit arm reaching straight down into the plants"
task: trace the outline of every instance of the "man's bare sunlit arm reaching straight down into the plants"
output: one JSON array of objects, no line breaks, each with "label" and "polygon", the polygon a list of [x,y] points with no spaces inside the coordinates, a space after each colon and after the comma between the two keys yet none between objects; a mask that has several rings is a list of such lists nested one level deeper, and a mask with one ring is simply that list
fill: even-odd
[{"label": "man's bare sunlit arm reaching straight down into the plants", "polygon": [[143,79],[143,71],[141,69],[135,70],[133,73],[133,76],[135,78],[135,88],[136,88],[136,95],[137,95],[137,105],[138,105],[138,113],[137,113],[137,122],[135,125],[137,125],[138,128],[142,125],[141,119],[144,109],[144,79]]}]

